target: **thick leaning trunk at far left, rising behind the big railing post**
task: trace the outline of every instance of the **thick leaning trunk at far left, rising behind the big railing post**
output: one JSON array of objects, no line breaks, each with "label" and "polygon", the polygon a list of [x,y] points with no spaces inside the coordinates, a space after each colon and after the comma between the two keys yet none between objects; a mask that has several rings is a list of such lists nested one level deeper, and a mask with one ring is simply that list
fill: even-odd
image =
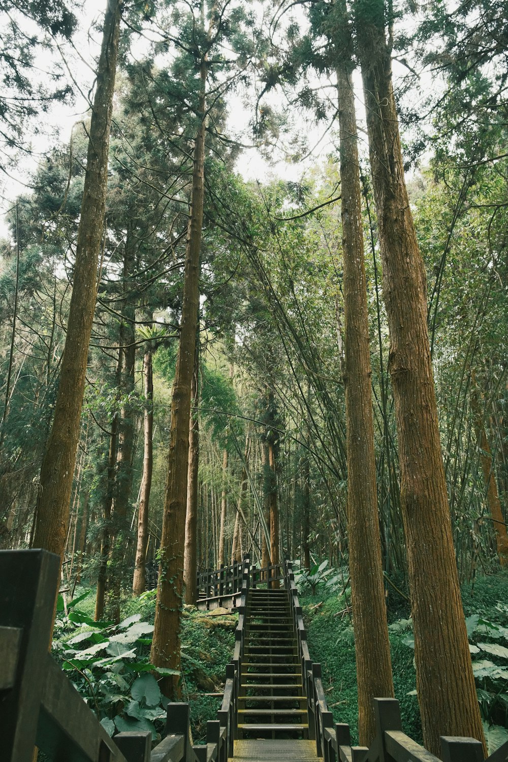
[{"label": "thick leaning trunk at far left, rising behind the big railing post", "polygon": [[69,321],[53,427],[40,471],[34,547],[57,553],[61,559],[69,526],[69,501],[85,392],[88,345],[97,298],[97,263],[106,209],[107,158],[117,69],[120,7],[121,0],[108,0],[104,16]]}]

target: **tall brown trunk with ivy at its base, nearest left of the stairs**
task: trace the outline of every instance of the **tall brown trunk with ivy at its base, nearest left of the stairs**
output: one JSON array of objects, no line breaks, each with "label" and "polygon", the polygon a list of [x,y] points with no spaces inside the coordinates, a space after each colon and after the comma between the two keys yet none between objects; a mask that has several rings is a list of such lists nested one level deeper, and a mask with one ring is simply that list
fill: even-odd
[{"label": "tall brown trunk with ivy at its base, nearest left of the stairs", "polygon": [[[150,660],[156,667],[181,671],[180,613],[184,582],[185,516],[189,464],[190,397],[196,346],[201,230],[203,228],[206,62],[201,63],[200,130],[193,159],[193,187],[185,254],[184,301],[177,366],[171,399],[168,478],[165,488],[155,630]],[[161,690],[180,696],[177,675],[161,680]]]}]

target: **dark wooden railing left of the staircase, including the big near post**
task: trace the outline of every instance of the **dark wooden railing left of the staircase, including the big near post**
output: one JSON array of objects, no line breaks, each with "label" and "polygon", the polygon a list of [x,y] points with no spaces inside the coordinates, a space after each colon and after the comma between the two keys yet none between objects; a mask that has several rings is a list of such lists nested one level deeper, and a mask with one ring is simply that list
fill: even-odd
[{"label": "dark wooden railing left of the staircase, including the big near post", "polygon": [[242,566],[240,626],[217,719],[206,746],[190,744],[189,706],[168,704],[164,738],[149,731],[110,738],[48,653],[59,559],[42,550],[0,552],[0,759],[32,762],[226,762],[232,756],[250,561]]}]

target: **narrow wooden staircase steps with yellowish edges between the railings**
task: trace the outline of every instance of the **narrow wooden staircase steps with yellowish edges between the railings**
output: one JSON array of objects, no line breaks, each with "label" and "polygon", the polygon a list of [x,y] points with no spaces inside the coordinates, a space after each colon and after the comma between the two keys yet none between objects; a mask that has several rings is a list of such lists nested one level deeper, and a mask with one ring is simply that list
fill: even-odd
[{"label": "narrow wooden staircase steps with yellowish edges between the railings", "polygon": [[238,690],[238,738],[308,738],[298,641],[286,590],[251,589]]}]

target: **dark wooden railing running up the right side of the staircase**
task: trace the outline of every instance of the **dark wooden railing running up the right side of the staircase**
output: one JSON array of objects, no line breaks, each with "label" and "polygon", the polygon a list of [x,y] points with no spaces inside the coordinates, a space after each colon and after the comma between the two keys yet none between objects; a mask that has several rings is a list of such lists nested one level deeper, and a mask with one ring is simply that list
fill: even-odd
[{"label": "dark wooden railing running up the right side of the staircase", "polygon": [[[324,757],[324,762],[484,762],[482,745],[475,738],[441,736],[441,759],[430,754],[402,732],[401,712],[396,699],[374,699],[375,739],[369,748],[351,746],[349,725],[334,723],[332,712],[327,707],[321,664],[313,663],[308,653],[302,607],[290,562],[286,562],[284,587],[288,591],[298,634],[308,703],[309,738],[316,741],[318,757]],[[490,754],[486,762],[508,762],[508,742]]]}]

